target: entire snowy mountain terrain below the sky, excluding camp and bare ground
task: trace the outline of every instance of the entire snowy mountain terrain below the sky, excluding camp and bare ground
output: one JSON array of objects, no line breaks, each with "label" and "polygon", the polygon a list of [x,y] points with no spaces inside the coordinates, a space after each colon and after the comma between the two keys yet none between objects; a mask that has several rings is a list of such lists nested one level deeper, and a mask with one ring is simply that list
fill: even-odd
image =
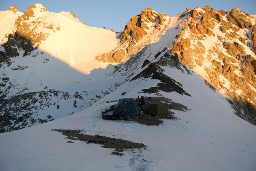
[{"label": "entire snowy mountain terrain below the sky, excluding camp and bare ground", "polygon": [[[255,21],[240,9],[148,7],[116,33],[41,4],[1,11],[1,170],[255,170]],[[102,120],[138,96],[168,98],[177,119]],[[52,129],[146,148],[111,155]]]}]

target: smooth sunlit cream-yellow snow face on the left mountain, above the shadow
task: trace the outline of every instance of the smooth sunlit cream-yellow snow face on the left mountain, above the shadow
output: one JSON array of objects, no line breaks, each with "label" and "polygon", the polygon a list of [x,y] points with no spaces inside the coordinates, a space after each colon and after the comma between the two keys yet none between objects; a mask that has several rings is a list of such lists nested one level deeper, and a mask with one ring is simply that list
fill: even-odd
[{"label": "smooth sunlit cream-yellow snow face on the left mountain, above the shadow", "polygon": [[[50,15],[42,21],[60,26],[60,31],[56,31],[57,33],[54,34],[52,30],[49,30],[51,36],[48,41],[42,42],[40,50],[84,74],[90,74],[93,69],[107,66],[96,62],[94,58],[116,47],[117,39],[114,32],[79,23],[68,12]],[[57,42],[67,42],[68,44]]]}]

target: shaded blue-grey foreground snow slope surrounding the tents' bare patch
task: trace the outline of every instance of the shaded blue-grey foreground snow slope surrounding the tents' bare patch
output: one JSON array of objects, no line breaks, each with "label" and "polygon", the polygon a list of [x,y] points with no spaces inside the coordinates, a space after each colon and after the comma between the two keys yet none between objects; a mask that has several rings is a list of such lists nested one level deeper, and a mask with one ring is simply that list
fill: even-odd
[{"label": "shaded blue-grey foreground snow slope surrounding the tents' bare patch", "polygon": [[[131,89],[131,93],[126,97],[136,97],[144,80],[125,82],[121,89],[114,90],[83,112],[1,133],[1,170],[255,170],[256,127],[234,115],[225,98],[211,90],[202,78],[193,73],[191,76],[180,70],[164,69],[192,96],[161,92],[164,97],[191,109],[187,112],[173,110],[177,120],[163,120],[158,127],[102,120],[101,111],[116,103],[106,101],[120,98],[120,92],[127,89]],[[114,149],[100,145],[78,140],[66,143],[65,136],[52,129],[77,129],[87,135],[115,137],[147,147],[116,156],[111,155]]]}]

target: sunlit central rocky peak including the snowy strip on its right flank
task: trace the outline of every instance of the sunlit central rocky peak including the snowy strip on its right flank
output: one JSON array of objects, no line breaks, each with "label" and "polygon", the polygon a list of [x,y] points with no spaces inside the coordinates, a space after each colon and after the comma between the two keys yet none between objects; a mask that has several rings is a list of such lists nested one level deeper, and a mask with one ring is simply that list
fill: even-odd
[{"label": "sunlit central rocky peak including the snowy strip on its right flank", "polygon": [[[141,51],[147,44],[154,42],[163,34],[171,18],[166,14],[153,11],[151,7],[135,15],[118,36],[119,46],[109,53],[96,57],[103,62],[125,62],[131,55]],[[141,39],[145,41],[140,42]]]}]

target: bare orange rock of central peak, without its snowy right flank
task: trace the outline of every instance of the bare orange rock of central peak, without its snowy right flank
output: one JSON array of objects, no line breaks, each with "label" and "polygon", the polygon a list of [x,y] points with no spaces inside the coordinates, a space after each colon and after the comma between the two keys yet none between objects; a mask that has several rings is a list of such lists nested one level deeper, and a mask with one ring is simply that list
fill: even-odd
[{"label": "bare orange rock of central peak, without its snowy right flank", "polygon": [[[160,26],[166,22],[165,16],[167,15],[153,11],[151,7],[144,9],[140,15],[133,16],[125,26],[123,34],[120,37],[121,48],[115,49],[107,54],[99,55],[96,57],[96,60],[120,62],[125,57],[131,55],[139,40],[148,34],[151,25],[155,29],[161,30]],[[140,49],[144,48],[144,46],[140,47]]]}]

